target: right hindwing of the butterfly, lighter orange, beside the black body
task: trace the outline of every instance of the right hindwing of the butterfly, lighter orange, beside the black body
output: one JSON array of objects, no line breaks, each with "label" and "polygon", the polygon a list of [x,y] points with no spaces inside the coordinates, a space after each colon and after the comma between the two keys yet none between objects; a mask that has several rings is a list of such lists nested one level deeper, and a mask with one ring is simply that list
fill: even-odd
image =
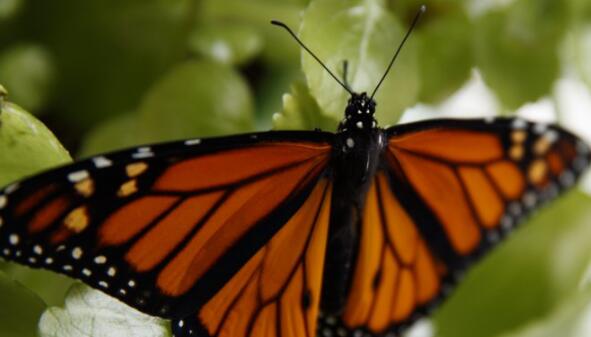
[{"label": "right hindwing of the butterfly, lighter orange, beside the black body", "polygon": [[386,172],[376,175],[367,193],[360,231],[342,324],[348,331],[382,333],[433,301],[446,272],[390,189]]}]

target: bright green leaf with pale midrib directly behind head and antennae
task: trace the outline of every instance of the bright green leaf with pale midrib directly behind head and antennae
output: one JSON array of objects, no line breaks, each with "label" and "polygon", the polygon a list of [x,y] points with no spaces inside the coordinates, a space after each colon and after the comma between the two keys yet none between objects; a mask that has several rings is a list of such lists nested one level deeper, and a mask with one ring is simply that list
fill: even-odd
[{"label": "bright green leaf with pale midrib directly behind head and antennae", "polygon": [[[300,37],[338,77],[348,60],[352,89],[371,94],[407,28],[379,0],[318,0],[304,13]],[[310,92],[327,115],[341,118],[347,92],[312,57],[302,55]],[[382,125],[394,124],[416,102],[416,59],[416,39],[411,38],[375,97]]]}]

